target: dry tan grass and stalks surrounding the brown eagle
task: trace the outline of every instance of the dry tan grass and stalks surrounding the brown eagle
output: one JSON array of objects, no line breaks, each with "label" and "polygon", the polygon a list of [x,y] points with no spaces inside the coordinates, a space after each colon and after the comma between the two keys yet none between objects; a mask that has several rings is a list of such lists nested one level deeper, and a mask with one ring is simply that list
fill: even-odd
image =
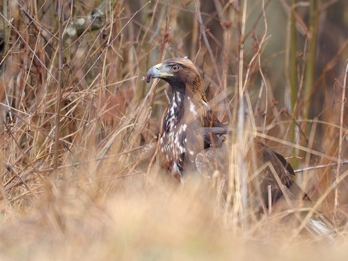
[{"label": "dry tan grass and stalks surrounding the brown eagle", "polygon": [[[322,45],[331,47],[320,49],[301,34],[306,7],[292,12],[286,1],[64,1],[61,20],[60,2],[0,5],[1,260],[347,256],[347,32],[343,16],[324,16],[347,3],[317,9],[322,24],[310,23],[322,26]],[[88,22],[92,10],[103,15]],[[285,13],[297,27],[287,26]],[[74,35],[78,17],[86,24]],[[297,48],[290,45],[294,28]],[[319,61],[309,57],[311,48]],[[187,175],[179,185],[156,163],[139,164],[168,92],[141,79],[164,58],[186,55],[200,68],[214,111],[238,133],[228,204],[219,175]],[[288,212],[257,218],[244,204],[248,178],[238,155],[251,134],[296,156],[298,182],[317,200],[310,209],[335,224],[335,242],[285,223]],[[308,166],[317,168],[301,171]]]}]

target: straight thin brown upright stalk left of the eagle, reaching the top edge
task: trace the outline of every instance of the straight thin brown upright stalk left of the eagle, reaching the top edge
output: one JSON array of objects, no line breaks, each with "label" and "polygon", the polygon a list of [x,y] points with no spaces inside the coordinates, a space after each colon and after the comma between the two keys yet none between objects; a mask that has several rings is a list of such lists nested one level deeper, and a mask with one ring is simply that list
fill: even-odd
[{"label": "straight thin brown upright stalk left of the eagle, reaching the top edge", "polygon": [[62,72],[63,72],[63,49],[62,49],[62,23],[63,23],[63,0],[58,0],[58,86],[56,99],[56,132],[54,148],[54,169],[58,168],[59,158],[59,131],[61,129],[61,97],[62,97]]}]

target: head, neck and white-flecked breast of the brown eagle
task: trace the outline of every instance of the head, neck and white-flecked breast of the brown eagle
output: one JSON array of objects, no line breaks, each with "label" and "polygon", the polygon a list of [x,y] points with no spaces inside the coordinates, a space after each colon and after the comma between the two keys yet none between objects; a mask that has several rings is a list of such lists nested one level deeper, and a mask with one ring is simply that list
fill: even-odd
[{"label": "head, neck and white-flecked breast of the brown eagle", "polygon": [[198,135],[201,127],[223,127],[214,116],[202,88],[200,75],[187,58],[173,58],[153,66],[147,81],[160,78],[172,87],[171,102],[162,123],[159,150],[162,166],[180,179],[184,165],[195,164],[201,150],[219,146],[220,134]]}]

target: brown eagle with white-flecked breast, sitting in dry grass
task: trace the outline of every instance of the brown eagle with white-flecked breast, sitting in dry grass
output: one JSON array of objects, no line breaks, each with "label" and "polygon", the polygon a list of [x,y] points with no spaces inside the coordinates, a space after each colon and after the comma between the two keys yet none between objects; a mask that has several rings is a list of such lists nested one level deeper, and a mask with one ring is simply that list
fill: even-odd
[{"label": "brown eagle with white-flecked breast, sitting in dry grass", "polygon": [[[150,68],[146,81],[150,82],[152,78],[168,82],[173,91],[159,139],[161,165],[179,179],[184,169],[192,165],[201,173],[216,166],[227,171],[228,148],[223,144],[225,137],[222,135],[226,134],[227,128],[209,108],[200,74],[193,63],[188,58],[168,59]],[[214,134],[209,129],[214,130]],[[253,141],[248,159],[250,166],[256,168],[270,162],[281,183],[294,193],[294,197],[302,193],[294,182],[294,171],[290,164],[260,141]],[[271,185],[271,198],[274,203],[282,196],[282,191],[274,174],[266,168],[258,178],[258,187],[266,205],[268,185]]]}]

